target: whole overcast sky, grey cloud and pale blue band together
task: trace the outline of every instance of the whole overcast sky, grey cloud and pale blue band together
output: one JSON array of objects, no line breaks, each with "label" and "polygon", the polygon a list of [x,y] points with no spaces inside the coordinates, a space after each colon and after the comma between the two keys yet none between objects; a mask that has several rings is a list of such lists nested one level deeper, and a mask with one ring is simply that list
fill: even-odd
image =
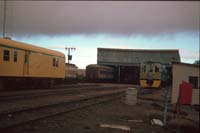
[{"label": "whole overcast sky, grey cloud and pale blue band together", "polygon": [[72,63],[80,68],[96,63],[97,47],[179,49],[182,61],[194,62],[199,13],[200,2],[188,1],[9,1],[6,35],[62,52],[77,47]]}]

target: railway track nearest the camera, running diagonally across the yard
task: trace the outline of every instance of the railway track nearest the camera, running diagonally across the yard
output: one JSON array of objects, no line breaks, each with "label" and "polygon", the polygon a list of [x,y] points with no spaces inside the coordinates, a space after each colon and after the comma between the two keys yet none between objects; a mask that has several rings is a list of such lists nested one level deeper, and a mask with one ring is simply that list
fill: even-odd
[{"label": "railway track nearest the camera, running diagonally across the yard", "polygon": [[69,96],[67,100],[58,103],[11,112],[3,112],[0,113],[0,130],[3,131],[10,127],[20,126],[25,123],[52,117],[54,115],[77,110],[100,102],[120,98],[124,92],[125,89],[88,92],[87,94]]}]

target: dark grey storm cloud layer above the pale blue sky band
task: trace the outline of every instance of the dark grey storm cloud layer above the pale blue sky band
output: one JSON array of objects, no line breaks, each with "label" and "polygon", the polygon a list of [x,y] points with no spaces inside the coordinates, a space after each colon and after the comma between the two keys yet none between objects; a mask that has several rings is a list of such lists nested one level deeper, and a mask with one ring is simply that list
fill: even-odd
[{"label": "dark grey storm cloud layer above the pale blue sky band", "polygon": [[9,1],[7,5],[7,33],[15,35],[199,32],[199,2]]}]

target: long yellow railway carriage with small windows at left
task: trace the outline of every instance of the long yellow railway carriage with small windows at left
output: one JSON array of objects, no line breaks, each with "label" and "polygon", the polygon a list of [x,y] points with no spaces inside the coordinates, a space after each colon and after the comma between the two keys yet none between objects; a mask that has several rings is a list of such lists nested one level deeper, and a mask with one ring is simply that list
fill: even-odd
[{"label": "long yellow railway carriage with small windows at left", "polygon": [[[52,84],[65,77],[65,55],[10,39],[0,39],[0,88],[12,83]],[[23,84],[20,83],[20,84]]]}]

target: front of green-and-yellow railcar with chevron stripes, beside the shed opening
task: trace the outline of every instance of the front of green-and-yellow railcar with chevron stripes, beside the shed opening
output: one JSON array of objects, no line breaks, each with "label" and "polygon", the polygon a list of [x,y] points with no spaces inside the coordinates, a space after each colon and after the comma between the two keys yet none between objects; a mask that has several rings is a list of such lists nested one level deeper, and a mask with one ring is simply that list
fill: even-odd
[{"label": "front of green-and-yellow railcar with chevron stripes, beside the shed opening", "polygon": [[160,63],[146,62],[140,68],[140,86],[142,88],[159,88],[161,85]]}]

